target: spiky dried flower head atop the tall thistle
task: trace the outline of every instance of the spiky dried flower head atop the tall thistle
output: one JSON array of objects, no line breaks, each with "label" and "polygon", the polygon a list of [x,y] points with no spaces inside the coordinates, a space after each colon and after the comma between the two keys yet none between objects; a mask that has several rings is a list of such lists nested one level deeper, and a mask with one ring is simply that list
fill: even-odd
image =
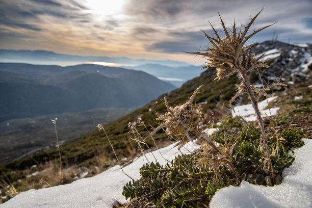
[{"label": "spiky dried flower head atop the tall thistle", "polygon": [[[261,60],[263,56],[258,58],[251,56],[250,49],[253,44],[245,46],[247,40],[249,40],[253,35],[272,25],[271,24],[264,28],[258,29],[247,36],[249,28],[261,12],[262,10],[255,17],[251,18],[251,21],[246,27],[242,25],[238,33],[235,21],[231,30],[228,30],[219,14],[225,36],[220,36],[211,24],[215,37],[209,36],[204,32],[206,38],[210,41],[206,46],[206,49],[191,53],[203,56],[207,60],[207,62],[205,62],[207,65],[202,67],[202,69],[207,67],[216,67],[216,79],[220,80],[226,76],[232,75],[235,72],[238,72],[241,76],[242,72],[248,72],[256,67],[269,68],[268,65],[259,63],[259,60]],[[245,30],[242,31],[242,28],[245,28]]]}]

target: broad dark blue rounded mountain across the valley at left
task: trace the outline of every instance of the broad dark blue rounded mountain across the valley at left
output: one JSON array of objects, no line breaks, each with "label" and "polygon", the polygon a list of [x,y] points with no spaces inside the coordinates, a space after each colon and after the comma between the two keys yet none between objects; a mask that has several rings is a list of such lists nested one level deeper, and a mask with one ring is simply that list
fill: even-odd
[{"label": "broad dark blue rounded mountain across the valley at left", "polygon": [[0,122],[94,108],[135,108],[173,89],[137,70],[0,63]]}]

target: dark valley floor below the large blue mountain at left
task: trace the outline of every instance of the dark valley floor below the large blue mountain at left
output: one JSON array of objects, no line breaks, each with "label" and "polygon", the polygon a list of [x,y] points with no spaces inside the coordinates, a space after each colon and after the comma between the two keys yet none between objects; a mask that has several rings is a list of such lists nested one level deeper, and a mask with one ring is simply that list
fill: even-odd
[{"label": "dark valley floor below the large blue mountain at left", "polygon": [[51,119],[58,118],[58,137],[63,144],[93,131],[98,123],[112,122],[133,110],[101,108],[3,121],[0,123],[0,165],[55,148],[56,134]]}]

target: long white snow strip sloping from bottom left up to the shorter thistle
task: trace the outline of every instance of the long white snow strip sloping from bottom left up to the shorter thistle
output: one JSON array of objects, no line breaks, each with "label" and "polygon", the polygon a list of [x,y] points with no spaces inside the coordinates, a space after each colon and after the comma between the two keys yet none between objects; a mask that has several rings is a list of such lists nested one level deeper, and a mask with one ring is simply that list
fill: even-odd
[{"label": "long white snow strip sloping from bottom left up to the shorter thistle", "polygon": [[[160,164],[165,165],[167,163],[164,158],[171,161],[180,153],[174,145],[171,144],[153,151],[153,155]],[[189,153],[193,150],[194,145],[192,144],[181,148],[183,153]],[[151,153],[146,154],[150,162],[155,162],[153,155]],[[146,159],[140,157],[124,167],[123,170],[134,179],[139,179],[139,169],[145,163]],[[130,180],[122,173],[119,166],[114,166],[96,176],[76,180],[71,184],[22,192],[6,203],[0,204],[0,207],[112,207],[116,200],[120,203],[125,202],[125,198],[121,195],[122,187]]]}]

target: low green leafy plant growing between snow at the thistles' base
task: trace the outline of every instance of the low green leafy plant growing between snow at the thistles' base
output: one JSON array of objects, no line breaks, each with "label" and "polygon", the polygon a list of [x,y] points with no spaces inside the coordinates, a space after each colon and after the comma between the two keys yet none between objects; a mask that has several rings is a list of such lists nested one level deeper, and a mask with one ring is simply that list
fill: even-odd
[{"label": "low green leafy plant growing between snow at the thistles' base", "polygon": [[[222,131],[220,131],[222,132]],[[295,131],[288,131],[288,134],[296,134]],[[225,140],[228,145],[233,145],[232,164],[240,174],[240,179],[225,166],[220,167],[216,174],[212,165],[198,161],[205,159],[203,152],[182,154],[177,156],[166,166],[159,163],[146,164],[140,169],[141,178],[127,183],[123,187],[122,194],[126,198],[133,199],[133,202],[142,199],[145,202],[152,202],[161,207],[203,207],[209,202],[215,192],[229,185],[238,186],[241,180],[256,185],[273,186],[270,174],[265,165],[266,155],[263,154],[263,147],[259,145],[261,131],[254,127],[245,127],[241,134],[232,135],[230,138],[220,137],[216,132],[211,136],[212,141],[219,144],[221,151],[226,149]],[[293,147],[293,146],[292,146]],[[275,181],[281,183],[283,168],[289,167],[294,158],[281,146],[269,142]]]}]

